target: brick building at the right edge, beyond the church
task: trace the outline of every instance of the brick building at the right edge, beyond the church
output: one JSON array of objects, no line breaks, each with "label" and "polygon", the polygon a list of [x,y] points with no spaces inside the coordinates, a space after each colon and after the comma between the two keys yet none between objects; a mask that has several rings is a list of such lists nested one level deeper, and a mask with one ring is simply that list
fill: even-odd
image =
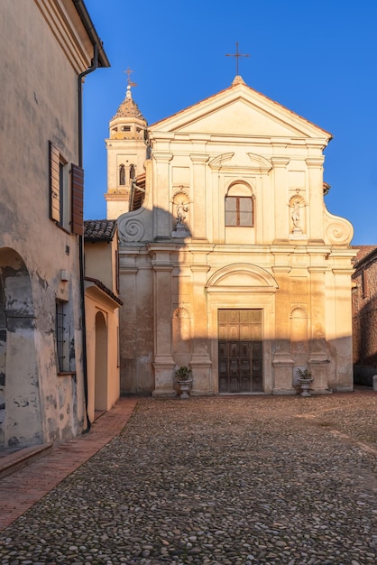
[{"label": "brick building at the right edge, beyond the church", "polygon": [[372,386],[377,374],[377,246],[361,245],[353,274],[354,381]]}]

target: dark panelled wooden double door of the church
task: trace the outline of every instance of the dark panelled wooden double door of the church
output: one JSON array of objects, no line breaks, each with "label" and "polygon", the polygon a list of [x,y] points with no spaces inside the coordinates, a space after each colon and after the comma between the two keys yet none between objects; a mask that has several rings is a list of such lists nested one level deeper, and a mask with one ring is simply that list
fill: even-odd
[{"label": "dark panelled wooden double door of the church", "polygon": [[262,392],[262,310],[217,310],[219,393]]}]

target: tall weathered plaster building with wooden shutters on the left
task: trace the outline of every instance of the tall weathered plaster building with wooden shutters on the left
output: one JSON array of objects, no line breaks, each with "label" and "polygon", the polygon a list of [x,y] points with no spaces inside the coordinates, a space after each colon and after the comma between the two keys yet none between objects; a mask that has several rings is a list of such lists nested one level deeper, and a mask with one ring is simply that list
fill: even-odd
[{"label": "tall weathered plaster building with wooden shutters on the left", "polygon": [[81,0],[3,0],[0,448],[87,428],[81,83],[109,62]]}]

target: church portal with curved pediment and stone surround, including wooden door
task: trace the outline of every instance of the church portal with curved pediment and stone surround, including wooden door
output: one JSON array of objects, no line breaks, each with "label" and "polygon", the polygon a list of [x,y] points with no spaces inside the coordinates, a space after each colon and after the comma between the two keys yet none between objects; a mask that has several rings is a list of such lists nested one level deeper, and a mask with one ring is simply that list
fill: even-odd
[{"label": "church portal with curved pediment and stone surround, including wooden door", "polygon": [[218,269],[206,288],[214,391],[270,394],[277,282],[258,265],[237,263]]}]

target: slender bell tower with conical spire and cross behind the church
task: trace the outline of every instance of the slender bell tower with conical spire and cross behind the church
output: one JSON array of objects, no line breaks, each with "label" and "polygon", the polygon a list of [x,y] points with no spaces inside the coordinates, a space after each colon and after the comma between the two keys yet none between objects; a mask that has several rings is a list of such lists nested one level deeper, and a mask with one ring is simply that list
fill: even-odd
[{"label": "slender bell tower with conical spire and cross behind the church", "polygon": [[107,149],[106,218],[116,219],[129,211],[129,199],[133,182],[144,172],[147,158],[148,124],[133,101],[130,69],[124,101],[109,122]]}]

